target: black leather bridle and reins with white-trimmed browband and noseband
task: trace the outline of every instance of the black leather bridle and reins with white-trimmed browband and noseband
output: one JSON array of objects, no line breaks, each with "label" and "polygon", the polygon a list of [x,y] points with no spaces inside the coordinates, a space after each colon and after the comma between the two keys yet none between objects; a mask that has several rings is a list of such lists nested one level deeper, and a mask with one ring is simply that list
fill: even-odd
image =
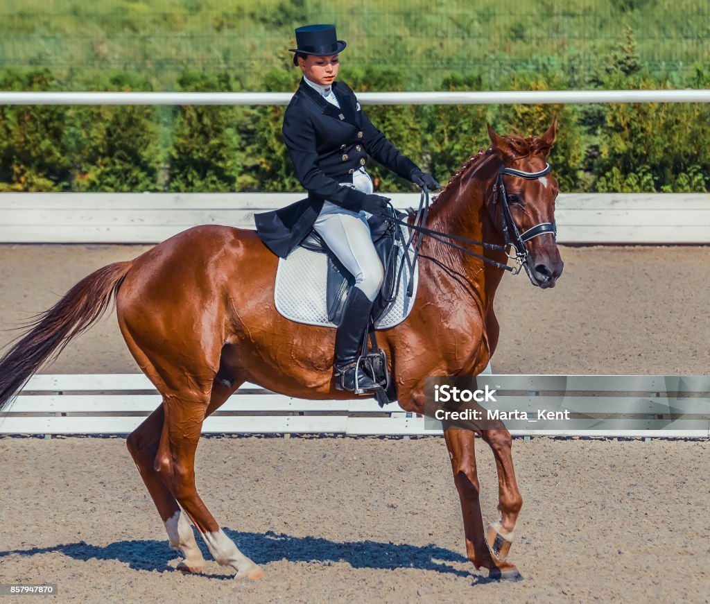
[{"label": "black leather bridle and reins with white-trimmed browband and noseband", "polygon": [[[427,187],[422,187],[419,209],[417,210],[415,219],[412,221],[412,223],[397,219],[394,216],[383,216],[385,220],[396,224],[401,224],[403,226],[407,226],[413,231],[409,240],[404,241],[404,237],[401,234],[400,229],[395,229],[395,231],[397,232],[398,240],[400,241],[400,243],[403,244],[404,247],[405,253],[403,254],[403,258],[406,260],[408,268],[410,269],[410,275],[414,275],[414,268],[417,264],[417,258],[419,257],[419,248],[421,246],[422,238],[424,235],[430,236],[432,239],[444,243],[449,247],[456,248],[457,250],[467,253],[469,256],[484,260],[484,262],[487,262],[495,266],[496,268],[508,270],[508,272],[513,275],[517,275],[518,273],[520,273],[520,268],[523,267],[525,260],[528,258],[528,250],[525,248],[525,243],[530,241],[530,239],[539,237],[540,235],[544,235],[546,233],[552,233],[552,236],[556,238],[557,224],[555,222],[541,222],[540,224],[532,226],[527,231],[520,233],[520,231],[518,230],[518,226],[513,220],[513,214],[511,214],[510,212],[510,205],[508,204],[508,193],[506,192],[506,185],[503,182],[503,176],[508,175],[515,176],[518,178],[525,178],[525,180],[537,180],[538,178],[550,174],[551,170],[552,168],[550,168],[550,164],[548,163],[545,163],[545,169],[540,170],[539,172],[525,172],[523,170],[515,170],[514,168],[505,168],[501,164],[501,168],[498,169],[498,176],[496,177],[496,182],[493,184],[493,204],[495,205],[498,202],[498,192],[500,192],[502,223],[501,229],[506,238],[506,243],[503,245],[500,245],[498,243],[486,243],[486,241],[476,241],[475,239],[469,239],[457,235],[449,235],[447,233],[443,233],[442,231],[428,229],[427,226],[425,226],[427,214],[429,214],[429,190],[427,189]],[[414,246],[414,258],[410,261],[408,252],[417,233],[420,234],[420,237],[417,238],[417,242]],[[500,263],[497,260],[493,260],[492,258],[486,258],[486,256],[484,256],[483,254],[479,254],[469,249],[466,249],[463,246],[459,246],[456,243],[452,243],[452,241],[447,241],[447,239],[451,239],[452,241],[460,241],[461,243],[468,243],[471,246],[481,246],[482,248],[487,250],[502,251],[506,253],[506,256],[508,256],[508,258],[510,258],[511,260],[515,260],[515,266],[508,266],[507,264]],[[510,254],[508,254],[508,246],[513,246],[513,248],[515,249],[515,256],[510,256]],[[404,263],[400,265],[400,275],[398,275],[397,290],[399,290],[399,282],[403,266]],[[412,292],[413,276],[412,278],[410,278],[410,284],[407,288],[407,295],[411,297]]]}]

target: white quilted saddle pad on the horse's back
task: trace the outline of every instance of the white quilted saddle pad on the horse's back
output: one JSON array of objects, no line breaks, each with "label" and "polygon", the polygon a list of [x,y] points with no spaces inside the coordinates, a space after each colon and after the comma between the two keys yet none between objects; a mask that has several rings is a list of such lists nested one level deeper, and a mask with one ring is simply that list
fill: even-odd
[{"label": "white quilted saddle pad on the horse's back", "polygon": [[[406,226],[402,226],[405,240],[408,238]],[[403,250],[397,246],[397,259],[402,260]],[[410,250],[410,259],[413,251]],[[326,304],[327,256],[297,247],[287,258],[279,258],[276,271],[274,298],[276,309],[286,319],[308,325],[335,327],[328,320]],[[417,296],[419,271],[415,269],[412,297],[407,296],[410,272],[405,265],[400,277],[397,298],[391,302],[382,317],[375,323],[376,329],[388,329],[407,318]],[[396,285],[395,285],[396,287]]]}]

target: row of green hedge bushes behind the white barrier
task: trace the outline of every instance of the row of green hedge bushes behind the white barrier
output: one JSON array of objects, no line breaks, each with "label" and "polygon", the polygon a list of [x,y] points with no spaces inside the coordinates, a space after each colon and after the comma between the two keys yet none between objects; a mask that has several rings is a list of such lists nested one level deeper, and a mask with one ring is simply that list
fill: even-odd
[{"label": "row of green hedge bushes behind the white barrier", "polygon": [[[262,76],[267,91],[293,90],[299,73]],[[401,90],[394,70],[346,69],[356,91]],[[139,75],[87,74],[84,89],[148,90]],[[633,38],[603,72],[519,72],[500,89],[709,87],[710,70],[692,81],[654,79],[635,57]],[[0,89],[60,90],[48,70],[0,70]],[[226,73],[185,70],[185,91],[233,91]],[[442,90],[486,89],[483,76],[442,78]],[[281,139],[283,106],[0,106],[0,191],[296,191]],[[486,122],[499,133],[541,134],[559,120],[550,164],[563,191],[706,192],[710,190],[708,104],[368,106],[371,121],[423,169],[446,182],[488,145]],[[414,190],[375,163],[383,191]]]}]

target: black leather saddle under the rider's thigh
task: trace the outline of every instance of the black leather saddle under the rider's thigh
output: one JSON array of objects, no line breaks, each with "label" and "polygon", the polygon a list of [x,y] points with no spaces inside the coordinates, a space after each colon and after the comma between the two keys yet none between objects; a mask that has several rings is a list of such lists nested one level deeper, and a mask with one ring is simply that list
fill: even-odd
[{"label": "black leather saddle under the rider's thigh", "polygon": [[[402,220],[403,216],[406,216],[406,214],[396,212],[396,218]],[[370,225],[372,243],[385,272],[380,293],[372,307],[371,320],[372,322],[377,322],[394,301],[396,295],[399,227],[381,216],[370,216],[368,224]],[[345,300],[350,288],[355,283],[355,278],[342,265],[315,230],[308,234],[300,243],[300,246],[312,252],[324,253],[327,256],[326,308],[328,320],[337,325],[342,317]]]}]

